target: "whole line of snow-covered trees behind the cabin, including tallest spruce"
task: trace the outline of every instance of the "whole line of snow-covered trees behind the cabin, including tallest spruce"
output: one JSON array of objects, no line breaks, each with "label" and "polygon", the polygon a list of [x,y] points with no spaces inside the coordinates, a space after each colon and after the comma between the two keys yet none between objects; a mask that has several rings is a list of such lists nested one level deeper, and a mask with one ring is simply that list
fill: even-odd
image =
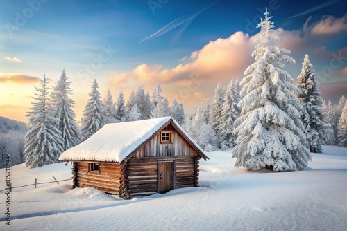
[{"label": "whole line of snow-covered trees behind the cabin, including tallest spruce", "polygon": [[294,64],[290,51],[273,46],[278,41],[272,17],[265,12],[257,27],[260,40],[241,82],[218,84],[212,100],[185,112],[176,100],[169,107],[158,84],[150,95],[144,86],[125,104],[121,91],[114,102],[110,91],[102,100],[96,80],[92,84],[81,129],[76,122],[71,88],[65,71],[50,92],[46,75],[36,89],[25,137],[26,165],[55,163],[66,149],[86,140],[108,122],[146,120],[171,115],[205,151],[232,148],[235,166],[267,167],[276,172],[310,169],[311,152],[321,145],[347,147],[347,102],[326,105],[316,84],[314,68],[305,55],[298,84],[284,66]]}]

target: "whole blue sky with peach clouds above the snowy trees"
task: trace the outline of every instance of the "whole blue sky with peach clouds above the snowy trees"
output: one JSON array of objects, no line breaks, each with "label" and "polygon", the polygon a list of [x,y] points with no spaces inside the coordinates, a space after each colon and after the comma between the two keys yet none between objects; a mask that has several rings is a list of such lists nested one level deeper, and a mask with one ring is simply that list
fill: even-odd
[{"label": "whole blue sky with peach clouds above the snowy trees", "polygon": [[[0,114],[25,120],[37,78],[45,71],[56,80],[63,68],[78,115],[94,78],[102,95],[160,83],[168,98],[192,106],[254,61],[265,8],[296,59],[286,70],[295,79],[309,54],[323,97],[336,102],[347,91],[346,1],[1,0]],[[203,82],[183,97],[193,75]]]}]

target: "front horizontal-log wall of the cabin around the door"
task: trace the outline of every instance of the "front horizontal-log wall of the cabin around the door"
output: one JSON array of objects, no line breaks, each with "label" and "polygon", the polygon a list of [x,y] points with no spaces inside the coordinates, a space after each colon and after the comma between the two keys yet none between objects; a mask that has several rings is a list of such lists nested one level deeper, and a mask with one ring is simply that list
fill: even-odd
[{"label": "front horizontal-log wall of the cabin around the door", "polygon": [[195,187],[196,160],[191,156],[138,158],[128,160],[130,196],[146,196],[158,191],[158,161],[175,161],[175,188]]}]

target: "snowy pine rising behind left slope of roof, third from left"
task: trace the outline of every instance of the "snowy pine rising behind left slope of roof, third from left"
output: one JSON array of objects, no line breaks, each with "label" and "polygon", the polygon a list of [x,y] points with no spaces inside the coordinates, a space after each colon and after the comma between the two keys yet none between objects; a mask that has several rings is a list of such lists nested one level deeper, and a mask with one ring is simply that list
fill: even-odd
[{"label": "snowy pine rising behind left slope of roof, third from left", "polygon": [[83,120],[81,127],[82,140],[87,140],[92,134],[99,131],[105,124],[105,115],[103,115],[103,103],[101,102],[101,96],[99,92],[99,85],[94,80],[92,85],[92,91],[89,93],[87,105],[83,111]]}]

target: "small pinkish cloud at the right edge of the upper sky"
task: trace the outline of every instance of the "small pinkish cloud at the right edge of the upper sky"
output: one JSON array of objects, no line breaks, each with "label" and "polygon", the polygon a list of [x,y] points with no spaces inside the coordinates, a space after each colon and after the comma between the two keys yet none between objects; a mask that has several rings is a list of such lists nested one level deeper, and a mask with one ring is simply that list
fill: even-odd
[{"label": "small pinkish cloud at the right edge of the upper sky", "polygon": [[347,30],[347,15],[341,18],[326,16],[312,26],[311,35],[333,35]]}]

